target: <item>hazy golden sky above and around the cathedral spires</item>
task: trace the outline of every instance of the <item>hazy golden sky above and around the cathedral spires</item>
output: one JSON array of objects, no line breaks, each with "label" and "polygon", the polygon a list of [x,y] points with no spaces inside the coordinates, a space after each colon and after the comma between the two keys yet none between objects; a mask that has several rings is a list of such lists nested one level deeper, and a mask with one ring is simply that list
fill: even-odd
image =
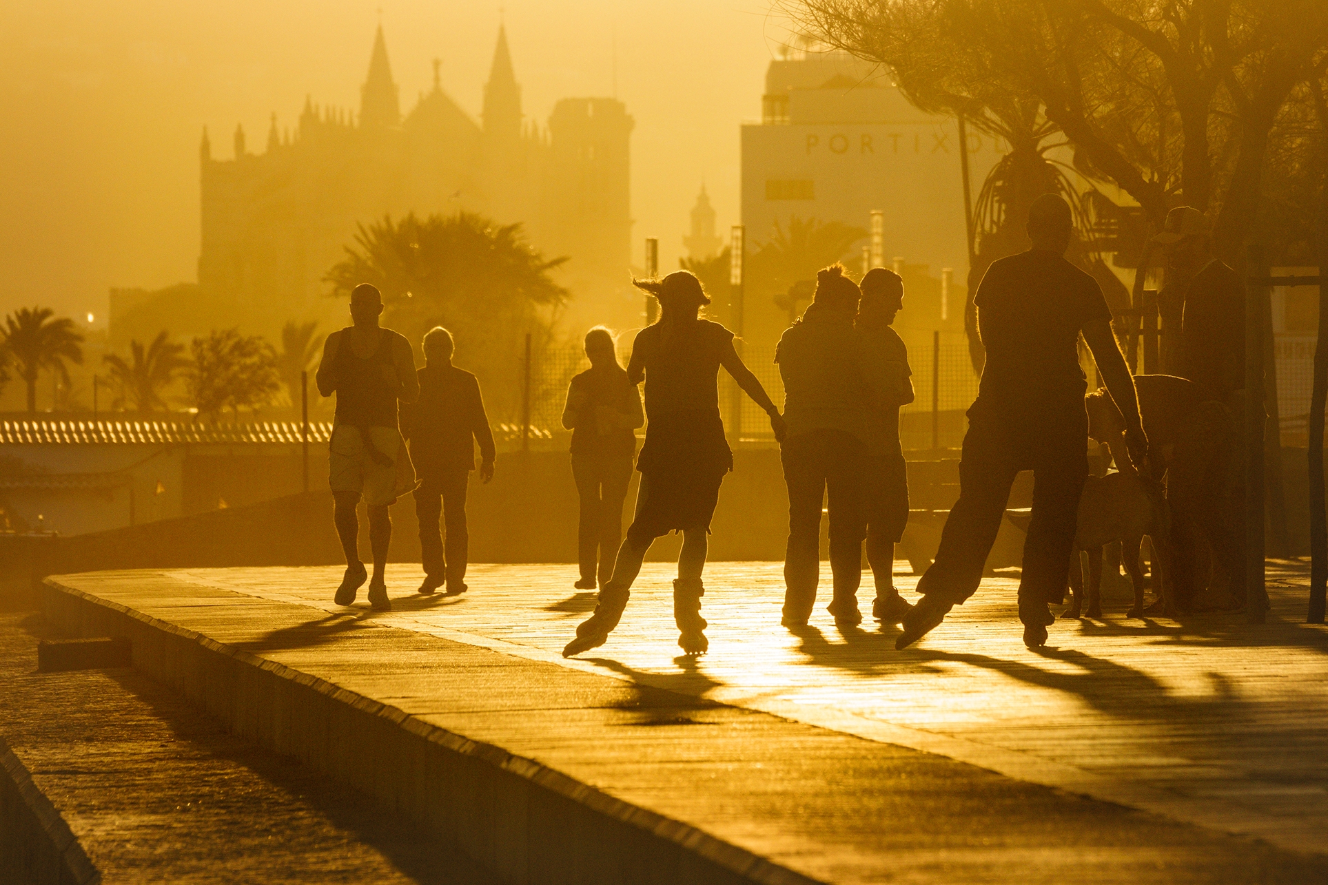
[{"label": "hazy golden sky above and around the cathedral spires", "polygon": [[736,220],[738,123],[785,36],[769,0],[0,0],[0,312],[101,314],[109,287],[197,279],[203,126],[228,158],[236,123],[260,151],[305,94],[357,107],[380,20],[402,111],[438,57],[478,114],[499,16],[527,117],[616,80],[637,260],[659,236],[676,267],[703,178]]}]

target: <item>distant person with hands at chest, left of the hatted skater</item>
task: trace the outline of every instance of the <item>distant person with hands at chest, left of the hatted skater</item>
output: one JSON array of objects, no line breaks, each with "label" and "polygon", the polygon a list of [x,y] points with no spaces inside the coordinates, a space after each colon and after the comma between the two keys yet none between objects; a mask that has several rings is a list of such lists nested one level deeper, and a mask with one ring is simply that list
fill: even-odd
[{"label": "distant person with hands at chest, left of the hatted skater", "polygon": [[580,498],[576,525],[579,590],[608,582],[623,541],[623,499],[632,480],[637,427],[645,423],[641,395],[618,365],[614,336],[604,326],[586,333],[590,369],[572,378],[563,427],[572,431],[572,479]]}]

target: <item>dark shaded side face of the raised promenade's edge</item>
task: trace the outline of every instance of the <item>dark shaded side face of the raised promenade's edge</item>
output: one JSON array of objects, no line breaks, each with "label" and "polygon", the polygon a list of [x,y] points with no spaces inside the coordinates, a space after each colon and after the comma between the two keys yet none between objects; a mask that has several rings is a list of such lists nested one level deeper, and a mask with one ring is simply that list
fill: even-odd
[{"label": "dark shaded side face of the raised promenade's edge", "polygon": [[41,602],[46,617],[73,636],[129,638],[137,669],[231,732],[420,820],[506,882],[815,882],[533,759],[58,577],[45,580]]}]

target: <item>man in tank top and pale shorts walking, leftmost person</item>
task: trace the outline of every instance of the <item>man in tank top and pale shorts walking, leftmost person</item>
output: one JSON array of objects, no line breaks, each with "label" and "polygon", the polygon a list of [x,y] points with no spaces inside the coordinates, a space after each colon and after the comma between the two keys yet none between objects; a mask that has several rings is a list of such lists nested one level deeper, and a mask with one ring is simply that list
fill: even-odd
[{"label": "man in tank top and pale shorts walking, leftmost person", "polygon": [[392,541],[388,506],[414,488],[414,470],[397,426],[397,399],[420,395],[414,352],[405,336],[378,326],[382,295],[368,283],[351,292],[353,325],[333,332],[323,345],[316,381],[324,397],[336,394],[336,418],[328,454],[328,480],[335,500],[336,533],[345,552],[345,576],[336,590],[337,605],[355,602],[368,579],[360,561],[360,520],[355,508],[361,495],[369,511],[369,548],[373,580],[369,605],[392,608],[382,577]]}]

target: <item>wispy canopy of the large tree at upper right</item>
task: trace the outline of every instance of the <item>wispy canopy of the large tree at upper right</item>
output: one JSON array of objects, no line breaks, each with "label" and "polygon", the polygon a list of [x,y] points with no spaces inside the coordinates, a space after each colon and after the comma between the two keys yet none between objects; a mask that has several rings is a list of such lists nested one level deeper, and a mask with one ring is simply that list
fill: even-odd
[{"label": "wispy canopy of the large tree at upper right", "polygon": [[1231,263],[1256,223],[1283,106],[1328,52],[1323,0],[778,3],[825,45],[902,80],[920,70],[957,96],[1033,102],[1076,167],[1114,182],[1154,228],[1179,202],[1212,215]]}]

